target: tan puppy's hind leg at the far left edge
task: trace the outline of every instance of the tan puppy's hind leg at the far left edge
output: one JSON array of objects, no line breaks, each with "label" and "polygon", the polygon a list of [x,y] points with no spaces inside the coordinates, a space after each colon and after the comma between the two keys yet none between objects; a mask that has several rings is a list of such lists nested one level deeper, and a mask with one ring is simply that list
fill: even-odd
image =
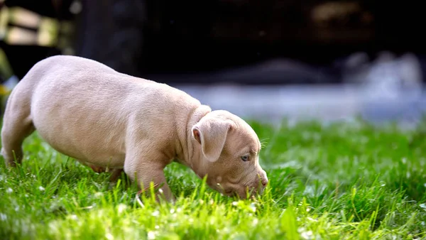
[{"label": "tan puppy's hind leg at the far left edge", "polygon": [[[18,88],[19,86],[16,86]],[[31,119],[29,99],[17,99],[12,91],[4,111],[3,128],[1,129],[1,155],[6,166],[15,167],[23,158],[22,143],[35,130]],[[25,94],[21,94],[25,96]],[[18,98],[20,98],[19,96]]]}]

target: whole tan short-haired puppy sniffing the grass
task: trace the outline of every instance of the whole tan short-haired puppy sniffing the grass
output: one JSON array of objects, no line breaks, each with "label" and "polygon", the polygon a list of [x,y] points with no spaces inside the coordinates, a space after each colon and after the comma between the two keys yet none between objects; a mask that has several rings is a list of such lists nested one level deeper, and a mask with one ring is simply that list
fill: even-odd
[{"label": "whole tan short-haired puppy sniffing the grass", "polygon": [[261,143],[243,119],[94,60],[46,58],[16,85],[1,130],[6,165],[21,163],[23,140],[35,130],[56,151],[94,169],[124,169],[140,187],[163,185],[167,200],[174,197],[163,168],[173,160],[207,175],[207,184],[225,195],[261,193],[268,182],[258,163]]}]

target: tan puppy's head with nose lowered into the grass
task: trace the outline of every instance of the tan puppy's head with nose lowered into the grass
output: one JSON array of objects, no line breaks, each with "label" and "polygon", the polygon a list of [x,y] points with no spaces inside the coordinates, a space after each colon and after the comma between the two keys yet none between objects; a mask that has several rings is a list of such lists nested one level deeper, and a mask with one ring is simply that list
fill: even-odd
[{"label": "tan puppy's head with nose lowered into the grass", "polygon": [[[229,111],[212,111],[192,126],[198,168],[207,184],[224,195],[262,193],[268,183],[258,163],[261,142],[249,124]],[[247,195],[249,193],[249,195]]]}]

